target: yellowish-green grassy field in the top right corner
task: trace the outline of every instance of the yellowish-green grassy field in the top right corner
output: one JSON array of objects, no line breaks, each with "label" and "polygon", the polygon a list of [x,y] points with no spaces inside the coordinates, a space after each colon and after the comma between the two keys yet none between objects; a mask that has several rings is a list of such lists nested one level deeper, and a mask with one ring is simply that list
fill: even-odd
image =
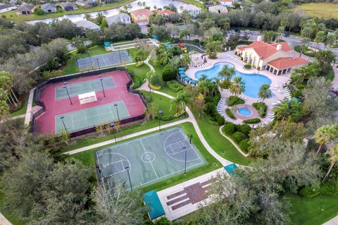
[{"label": "yellowish-green grassy field in the top right corner", "polygon": [[338,4],[310,3],[301,4],[294,8],[295,11],[304,11],[308,16],[338,19]]}]

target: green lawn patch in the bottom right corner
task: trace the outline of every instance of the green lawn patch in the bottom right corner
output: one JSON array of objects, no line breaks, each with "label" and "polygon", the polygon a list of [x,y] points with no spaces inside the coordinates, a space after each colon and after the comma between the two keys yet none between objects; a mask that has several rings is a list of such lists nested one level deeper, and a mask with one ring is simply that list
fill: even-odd
[{"label": "green lawn patch in the bottom right corner", "polygon": [[293,224],[320,225],[338,215],[338,197],[287,195]]}]

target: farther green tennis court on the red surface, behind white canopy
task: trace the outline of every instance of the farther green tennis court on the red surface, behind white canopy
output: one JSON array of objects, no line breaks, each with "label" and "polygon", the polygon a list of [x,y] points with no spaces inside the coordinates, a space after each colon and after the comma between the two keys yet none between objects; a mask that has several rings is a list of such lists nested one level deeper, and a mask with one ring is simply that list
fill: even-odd
[{"label": "farther green tennis court on the red surface, behind white canopy", "polygon": [[[111,89],[116,87],[113,77],[101,78],[102,85],[104,86],[104,90]],[[80,83],[73,83],[67,86],[68,93],[70,97],[75,97],[77,95],[81,95],[87,92],[97,92],[102,90],[101,80],[87,80]],[[55,100],[61,100],[68,98],[67,90],[62,87],[55,87]]]}]

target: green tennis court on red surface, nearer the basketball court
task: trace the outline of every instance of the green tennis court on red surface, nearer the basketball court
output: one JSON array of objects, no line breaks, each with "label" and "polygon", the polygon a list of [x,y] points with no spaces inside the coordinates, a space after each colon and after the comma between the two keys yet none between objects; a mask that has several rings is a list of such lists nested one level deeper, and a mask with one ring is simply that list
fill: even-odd
[{"label": "green tennis court on red surface, nearer the basketball court", "polygon": [[[117,104],[115,107],[114,104]],[[63,118],[61,118],[63,117]],[[105,123],[111,123],[123,118],[129,118],[130,114],[125,107],[125,102],[112,102],[98,107],[73,111],[68,114],[55,116],[55,133],[63,130],[64,127],[69,133],[76,130],[82,130],[92,126],[98,126]],[[63,126],[63,122],[65,125]]]}]

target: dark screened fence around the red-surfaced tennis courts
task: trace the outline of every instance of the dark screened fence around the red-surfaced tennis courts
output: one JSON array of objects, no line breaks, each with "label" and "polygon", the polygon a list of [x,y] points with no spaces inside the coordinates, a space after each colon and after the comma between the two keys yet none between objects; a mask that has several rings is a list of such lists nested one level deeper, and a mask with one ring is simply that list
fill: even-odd
[{"label": "dark screened fence around the red-surfaced tennis courts", "polygon": [[[67,80],[75,79],[75,78],[88,77],[88,76],[92,76],[92,75],[100,75],[102,73],[108,73],[108,72],[113,72],[113,71],[123,71],[127,74],[127,77],[130,80],[127,83],[128,92],[139,95],[139,97],[141,97],[141,99],[142,99],[143,104],[146,106],[146,100],[144,99],[143,95],[141,95],[141,93],[138,90],[134,90],[130,87],[132,85],[132,77],[127,72],[126,68],[123,68],[123,67],[101,68],[101,69],[95,70],[95,71],[73,73],[73,74],[70,74],[70,75],[63,75],[63,76],[59,76],[59,77],[56,77],[56,78],[50,78],[48,80],[44,80],[44,81],[38,83],[37,86],[35,87],[34,101],[35,101],[35,104],[37,104],[37,106],[41,107],[41,109],[39,109],[37,112],[35,112],[35,114],[33,114],[33,116],[32,116],[32,123],[31,123],[31,127],[30,127],[31,133],[35,133],[35,123],[36,123],[35,121],[36,121],[37,117],[39,117],[41,114],[44,113],[44,111],[46,111],[46,107],[44,105],[44,102],[41,102],[39,100],[39,95],[42,92],[42,90],[44,89],[44,87],[46,87],[46,85],[54,84],[54,83],[61,83],[61,82],[65,82]],[[120,124],[123,125],[123,124],[127,124],[127,123],[134,123],[136,121],[141,121],[143,119],[144,119],[144,115],[134,116],[134,117],[125,118],[123,120],[120,120]],[[96,131],[96,126],[84,128],[82,130],[77,130],[73,133],[70,133],[70,138],[75,138],[75,137],[78,137],[78,136],[81,136],[81,135],[87,135],[89,133],[94,133],[95,131]]]}]

